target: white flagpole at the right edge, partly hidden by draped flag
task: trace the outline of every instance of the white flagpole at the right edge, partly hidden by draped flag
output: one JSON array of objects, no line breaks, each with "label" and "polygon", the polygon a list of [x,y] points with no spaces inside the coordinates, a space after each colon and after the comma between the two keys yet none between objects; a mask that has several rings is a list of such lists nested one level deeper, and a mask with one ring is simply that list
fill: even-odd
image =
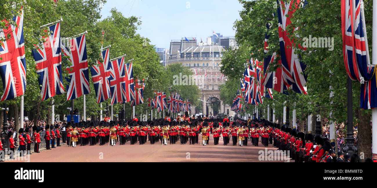
[{"label": "white flagpole at the right edge, partly hidden by draped flag", "polygon": [[[377,9],[377,0],[373,0],[373,8]],[[377,64],[377,13],[373,11],[372,25],[372,64]],[[374,46],[375,45],[375,46]],[[372,109],[372,145],[377,146],[377,108]],[[377,159],[377,147],[372,149],[372,158]]]}]

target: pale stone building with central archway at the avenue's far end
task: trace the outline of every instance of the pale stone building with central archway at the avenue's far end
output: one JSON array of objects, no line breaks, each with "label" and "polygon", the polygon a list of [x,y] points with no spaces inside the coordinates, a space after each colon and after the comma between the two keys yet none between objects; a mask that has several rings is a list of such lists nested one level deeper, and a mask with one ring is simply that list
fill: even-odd
[{"label": "pale stone building with central archway at the avenue's far end", "polygon": [[[234,37],[216,37],[213,39],[215,45],[211,45],[212,36],[207,38],[207,41],[200,43],[194,37],[187,37],[189,41],[182,37],[181,40],[171,40],[169,53],[165,65],[181,63],[182,66],[189,67],[193,73],[195,70],[198,76],[195,75],[195,83],[201,90],[200,99],[202,101],[202,110],[197,107],[192,107],[191,114],[203,113],[203,115],[216,115],[217,113],[225,113],[233,115],[234,112],[230,110],[229,105],[224,105],[220,100],[219,86],[225,83],[225,79],[221,78],[220,72],[222,53],[229,46],[236,46]],[[216,42],[217,41],[217,42]],[[221,46],[219,45],[221,41]],[[207,72],[207,78],[205,77]],[[211,109],[210,103],[213,101],[220,101],[220,108],[218,111]]]}]

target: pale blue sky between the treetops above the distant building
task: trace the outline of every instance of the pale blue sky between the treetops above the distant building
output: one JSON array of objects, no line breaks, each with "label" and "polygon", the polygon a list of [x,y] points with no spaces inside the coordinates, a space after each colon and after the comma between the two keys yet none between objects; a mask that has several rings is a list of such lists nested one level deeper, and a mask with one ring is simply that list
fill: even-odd
[{"label": "pale blue sky between the treetops above the distant building", "polygon": [[102,18],[114,7],[126,17],[141,17],[138,33],[162,48],[181,37],[205,41],[212,31],[234,36],[233,23],[242,10],[238,0],[107,0]]}]

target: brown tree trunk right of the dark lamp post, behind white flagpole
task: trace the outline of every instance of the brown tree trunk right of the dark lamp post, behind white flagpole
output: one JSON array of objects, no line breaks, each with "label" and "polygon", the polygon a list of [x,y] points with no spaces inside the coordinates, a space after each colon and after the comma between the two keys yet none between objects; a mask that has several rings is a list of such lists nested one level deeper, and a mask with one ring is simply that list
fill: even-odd
[{"label": "brown tree trunk right of the dark lamp post, behind white flagpole", "polygon": [[371,115],[369,113],[362,112],[362,110],[359,109],[359,122],[357,126],[357,146],[359,147],[359,153],[364,153],[364,159],[372,159],[371,138]]}]

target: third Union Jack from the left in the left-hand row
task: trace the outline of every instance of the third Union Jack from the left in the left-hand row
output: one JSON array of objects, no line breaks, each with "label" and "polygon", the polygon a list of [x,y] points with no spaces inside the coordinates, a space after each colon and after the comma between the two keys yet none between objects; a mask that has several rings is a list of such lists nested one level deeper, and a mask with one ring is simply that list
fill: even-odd
[{"label": "third Union Jack from the left in the left-hand row", "polygon": [[69,40],[69,49],[62,45],[63,54],[69,57],[71,66],[66,68],[68,77],[67,100],[79,98],[90,92],[89,69],[86,55],[85,35]]}]

